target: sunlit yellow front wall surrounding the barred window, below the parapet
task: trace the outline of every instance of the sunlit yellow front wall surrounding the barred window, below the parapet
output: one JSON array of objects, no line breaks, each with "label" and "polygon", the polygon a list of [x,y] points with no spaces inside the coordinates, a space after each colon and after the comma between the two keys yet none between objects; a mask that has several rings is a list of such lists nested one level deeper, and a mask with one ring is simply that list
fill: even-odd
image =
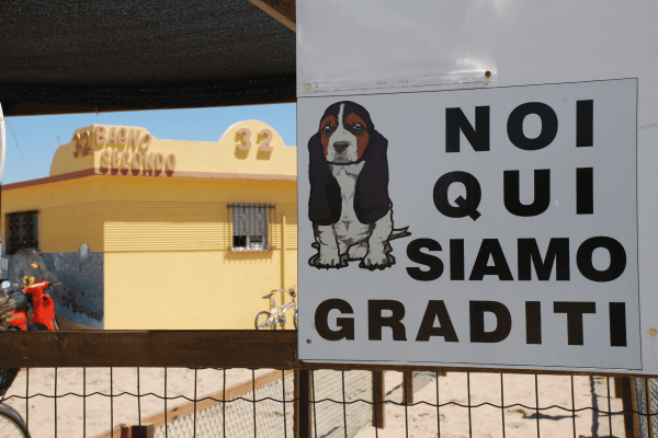
[{"label": "sunlit yellow front wall surrounding the barred window, below the parapet", "polygon": [[[295,183],[164,180],[126,185],[107,178],[106,184],[112,195],[104,203],[103,224],[105,328],[253,328],[256,314],[270,308],[261,297],[296,284]],[[115,184],[126,191],[124,200],[112,200]],[[230,203],[275,206],[272,251],[229,250]]]}]

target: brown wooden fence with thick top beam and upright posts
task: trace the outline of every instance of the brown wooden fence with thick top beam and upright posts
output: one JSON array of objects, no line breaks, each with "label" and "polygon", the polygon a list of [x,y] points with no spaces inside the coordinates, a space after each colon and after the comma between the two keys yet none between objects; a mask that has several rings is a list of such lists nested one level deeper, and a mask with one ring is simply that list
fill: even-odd
[{"label": "brown wooden fence with thick top beam and upright posts", "polygon": [[[383,370],[405,372],[404,402],[413,403],[411,371],[511,372],[537,373],[532,369],[456,368],[431,366],[396,366],[362,364],[304,362],[297,356],[296,331],[84,331],[84,332],[0,332],[0,368],[39,367],[184,367],[184,368],[269,368],[295,372],[295,436],[310,437],[310,372],[313,369],[372,370],[377,383],[373,394],[381,402]],[[582,374],[590,372],[541,371],[545,374]],[[276,372],[281,376],[281,371]],[[633,400],[633,380],[628,374],[600,373],[615,377],[615,392],[624,402],[627,437],[637,433],[637,411]],[[637,376],[645,378],[646,376]],[[243,383],[251,390],[251,382]],[[245,388],[242,388],[243,390]],[[238,389],[235,389],[238,391]],[[237,394],[237,393],[236,393]],[[216,394],[223,397],[224,394]],[[229,396],[230,394],[226,394]],[[237,396],[237,395],[230,395]],[[216,396],[217,397],[217,396]],[[384,405],[375,403],[375,426],[384,426]],[[173,412],[171,413],[173,415]],[[163,414],[161,414],[163,415]],[[155,423],[155,419],[154,419]],[[146,434],[146,435],[144,435]],[[148,437],[148,428],[125,427],[122,437]]]}]

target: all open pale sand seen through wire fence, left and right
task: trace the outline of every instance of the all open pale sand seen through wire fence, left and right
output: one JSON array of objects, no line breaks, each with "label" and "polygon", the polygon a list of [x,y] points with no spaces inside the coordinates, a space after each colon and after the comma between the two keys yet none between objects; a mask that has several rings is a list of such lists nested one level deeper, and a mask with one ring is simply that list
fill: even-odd
[{"label": "all open pale sand seen through wire fence, left and right", "polygon": [[[270,370],[257,370],[256,376]],[[135,368],[115,368],[112,370],[114,395],[122,392],[137,393],[137,370]],[[194,397],[194,370],[174,369],[167,370],[167,396]],[[246,369],[228,370],[226,372],[226,388],[236,383],[251,380],[252,371]],[[222,370],[198,370],[196,372],[197,397],[222,390],[224,383]],[[154,395],[144,396],[139,401],[133,395],[115,396],[110,403],[110,369],[88,368],[86,370],[86,388],[83,387],[83,370],[80,368],[57,369],[57,395],[67,395],[57,401],[57,415],[55,415],[55,369],[31,369],[22,371],[16,378],[11,394],[25,395],[26,381],[30,395],[44,394],[29,400],[26,412],[25,400],[13,399],[11,404],[27,419],[29,427],[34,438],[48,437],[93,437],[110,430],[118,424],[138,424],[139,413],[141,418],[159,413],[164,408],[164,401]],[[613,379],[610,379],[610,393],[614,396]],[[504,420],[506,437],[534,437],[537,436],[535,377],[523,374],[506,374],[503,413],[500,408],[481,406],[470,410],[470,428],[474,437],[502,437],[502,422]],[[386,392],[401,383],[401,373],[386,373]],[[595,404],[599,410],[608,411],[608,380],[605,378],[575,377],[574,397],[576,408],[588,407]],[[540,376],[537,379],[540,406],[552,405],[571,407],[571,380],[569,377]],[[494,405],[501,404],[500,374],[472,373],[470,374],[470,402],[480,404],[489,402]],[[593,390],[593,392],[592,392]],[[98,393],[97,393],[98,392]],[[83,401],[75,394],[87,393]],[[97,394],[94,394],[97,393]],[[164,370],[161,368],[141,368],[139,370],[139,393],[163,396]],[[91,395],[90,395],[91,394]],[[593,395],[592,395],[593,394]],[[439,379],[440,404],[460,403],[468,404],[467,374],[449,373]],[[392,394],[394,401],[400,402],[400,391]],[[612,412],[621,411],[621,400],[610,399]],[[168,407],[183,404],[186,400],[180,397],[168,401]],[[415,403],[427,402],[436,404],[436,382],[433,380],[426,388],[416,392]],[[530,406],[512,406],[523,404]],[[111,413],[112,408],[112,413]],[[83,415],[84,414],[84,415]],[[112,418],[111,418],[112,414]],[[368,426],[362,429],[356,437],[405,437],[408,429],[409,437],[436,436],[441,428],[442,437],[468,437],[469,416],[468,408],[452,404],[435,406],[418,404],[416,406],[386,406],[386,427],[375,430]],[[502,415],[501,415],[502,414]],[[55,428],[55,418],[57,426]],[[440,418],[440,422],[438,422]],[[612,417],[613,435],[623,435],[622,416]],[[540,431],[542,437],[609,437],[609,422],[605,414],[592,414],[590,410],[577,413],[576,434],[574,434],[574,419],[569,411],[557,407],[542,410],[540,414]]]}]

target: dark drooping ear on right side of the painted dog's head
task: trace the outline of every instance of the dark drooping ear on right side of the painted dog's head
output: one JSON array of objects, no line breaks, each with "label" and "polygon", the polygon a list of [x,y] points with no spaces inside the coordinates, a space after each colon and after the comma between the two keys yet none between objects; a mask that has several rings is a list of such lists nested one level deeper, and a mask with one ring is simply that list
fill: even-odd
[{"label": "dark drooping ear on right side of the painted dog's head", "polygon": [[354,194],[354,212],[361,223],[377,221],[390,208],[387,149],[388,140],[373,130],[363,154],[363,170],[356,180]]}]

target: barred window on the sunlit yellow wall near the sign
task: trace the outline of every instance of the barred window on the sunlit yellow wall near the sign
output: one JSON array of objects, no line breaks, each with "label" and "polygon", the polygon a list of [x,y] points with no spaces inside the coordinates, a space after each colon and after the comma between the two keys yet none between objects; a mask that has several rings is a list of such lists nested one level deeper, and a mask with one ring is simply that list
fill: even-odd
[{"label": "barred window on the sunlit yellow wall near the sign", "polygon": [[232,251],[266,251],[272,249],[270,224],[274,206],[269,204],[229,204],[232,229]]}]

